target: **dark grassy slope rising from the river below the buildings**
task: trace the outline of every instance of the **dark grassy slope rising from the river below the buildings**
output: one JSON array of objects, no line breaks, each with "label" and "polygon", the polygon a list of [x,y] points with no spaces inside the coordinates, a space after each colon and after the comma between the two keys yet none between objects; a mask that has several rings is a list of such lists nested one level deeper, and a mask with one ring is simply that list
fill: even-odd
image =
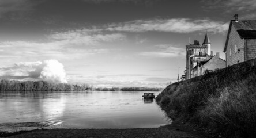
[{"label": "dark grassy slope rising from the river below the buildings", "polygon": [[244,62],[166,87],[156,101],[172,119],[230,137],[256,136],[256,66]]}]

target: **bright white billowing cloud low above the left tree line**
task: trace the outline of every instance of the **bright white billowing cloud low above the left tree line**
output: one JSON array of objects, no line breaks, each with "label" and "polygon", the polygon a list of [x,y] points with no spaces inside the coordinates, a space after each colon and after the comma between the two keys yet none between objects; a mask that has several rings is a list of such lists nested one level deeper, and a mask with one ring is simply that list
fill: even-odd
[{"label": "bright white billowing cloud low above the left tree line", "polygon": [[0,71],[0,75],[5,78],[32,78],[67,83],[64,66],[57,60],[19,62],[10,67],[0,68]]}]

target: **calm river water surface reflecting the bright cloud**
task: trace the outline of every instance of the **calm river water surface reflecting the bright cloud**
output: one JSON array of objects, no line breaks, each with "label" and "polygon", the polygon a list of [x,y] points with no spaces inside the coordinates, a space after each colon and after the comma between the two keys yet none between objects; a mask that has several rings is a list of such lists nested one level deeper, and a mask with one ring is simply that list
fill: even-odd
[{"label": "calm river water surface reflecting the bright cloud", "polygon": [[[170,123],[143,91],[0,92],[0,129],[145,128]],[[160,92],[154,92],[156,95]]]}]

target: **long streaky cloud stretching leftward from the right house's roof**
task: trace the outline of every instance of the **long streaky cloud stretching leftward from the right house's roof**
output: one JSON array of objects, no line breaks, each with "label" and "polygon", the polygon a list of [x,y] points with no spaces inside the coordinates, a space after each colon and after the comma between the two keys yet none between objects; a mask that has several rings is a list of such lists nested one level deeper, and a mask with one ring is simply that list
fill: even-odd
[{"label": "long streaky cloud stretching leftward from the right house's roof", "polygon": [[213,21],[209,19],[192,20],[189,18],[135,20],[110,24],[106,30],[122,32],[174,32],[191,33],[208,30],[213,33],[225,33],[228,22]]}]

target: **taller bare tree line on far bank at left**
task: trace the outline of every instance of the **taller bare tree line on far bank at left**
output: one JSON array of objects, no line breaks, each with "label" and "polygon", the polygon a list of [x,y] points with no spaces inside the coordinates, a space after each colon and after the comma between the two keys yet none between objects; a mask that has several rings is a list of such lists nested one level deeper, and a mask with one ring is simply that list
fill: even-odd
[{"label": "taller bare tree line on far bank at left", "polygon": [[93,90],[89,84],[74,85],[54,81],[25,81],[1,79],[0,91],[83,91]]}]

